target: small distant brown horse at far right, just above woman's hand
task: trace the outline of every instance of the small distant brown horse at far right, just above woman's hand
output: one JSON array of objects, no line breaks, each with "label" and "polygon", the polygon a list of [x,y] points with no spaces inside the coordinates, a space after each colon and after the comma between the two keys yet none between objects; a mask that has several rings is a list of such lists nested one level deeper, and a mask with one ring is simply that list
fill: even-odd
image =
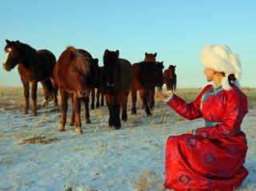
[{"label": "small distant brown horse at far right, just above woman's hand", "polygon": [[166,84],[166,90],[171,90],[172,92],[176,91],[177,84],[175,68],[176,66],[170,65],[163,73],[163,82]]}]

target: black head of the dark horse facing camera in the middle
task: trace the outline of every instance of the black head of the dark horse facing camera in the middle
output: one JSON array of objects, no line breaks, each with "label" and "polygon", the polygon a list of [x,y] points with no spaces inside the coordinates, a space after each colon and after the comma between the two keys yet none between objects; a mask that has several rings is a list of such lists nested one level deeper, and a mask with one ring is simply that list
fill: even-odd
[{"label": "black head of the dark horse facing camera in the middle", "polygon": [[120,70],[118,57],[119,50],[105,50],[103,56],[103,75],[107,86],[114,86],[117,81],[118,71]]}]

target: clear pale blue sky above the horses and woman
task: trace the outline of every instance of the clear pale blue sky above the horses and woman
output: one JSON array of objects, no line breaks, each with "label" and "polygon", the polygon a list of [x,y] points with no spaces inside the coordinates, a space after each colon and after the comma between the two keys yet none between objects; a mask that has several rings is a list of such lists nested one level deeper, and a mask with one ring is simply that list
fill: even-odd
[{"label": "clear pale blue sky above the horses and woman", "polygon": [[[256,87],[256,1],[2,1],[0,60],[6,38],[56,58],[66,46],[87,50],[102,65],[104,50],[140,62],[158,53],[165,66],[176,65],[178,87],[207,84],[199,61],[202,46],[226,44],[242,63],[242,86]],[[22,86],[17,68],[0,69],[0,86]]]}]

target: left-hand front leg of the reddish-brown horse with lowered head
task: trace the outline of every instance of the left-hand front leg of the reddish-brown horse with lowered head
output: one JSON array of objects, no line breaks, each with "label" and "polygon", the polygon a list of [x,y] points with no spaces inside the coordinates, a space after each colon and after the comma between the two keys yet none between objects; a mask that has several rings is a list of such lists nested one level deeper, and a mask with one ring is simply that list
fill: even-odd
[{"label": "left-hand front leg of the reddish-brown horse with lowered head", "polygon": [[65,90],[60,89],[60,94],[61,94],[61,109],[62,109],[62,117],[60,121],[60,125],[58,126],[58,131],[62,132],[65,131],[65,125],[66,125],[66,111],[68,107],[68,93]]}]

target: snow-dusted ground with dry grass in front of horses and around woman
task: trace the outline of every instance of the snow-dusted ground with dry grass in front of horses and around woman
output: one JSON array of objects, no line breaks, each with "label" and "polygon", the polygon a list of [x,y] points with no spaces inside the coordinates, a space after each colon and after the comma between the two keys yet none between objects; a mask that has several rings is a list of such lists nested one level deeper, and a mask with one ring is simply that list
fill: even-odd
[{"label": "snow-dusted ground with dry grass in front of horses and around woman", "polygon": [[[139,107],[139,106],[138,106]],[[128,106],[130,109],[130,105]],[[70,111],[70,110],[69,110]],[[142,109],[108,128],[106,107],[90,111],[83,134],[57,131],[60,113],[39,110],[37,117],[0,109],[0,190],[162,190],[166,137],[203,125],[178,117],[165,103],[146,117]],[[242,123],[249,149],[250,175],[241,190],[256,190],[256,112]],[[56,137],[50,144],[22,144],[26,138]],[[239,190],[240,190],[239,189]]]}]

